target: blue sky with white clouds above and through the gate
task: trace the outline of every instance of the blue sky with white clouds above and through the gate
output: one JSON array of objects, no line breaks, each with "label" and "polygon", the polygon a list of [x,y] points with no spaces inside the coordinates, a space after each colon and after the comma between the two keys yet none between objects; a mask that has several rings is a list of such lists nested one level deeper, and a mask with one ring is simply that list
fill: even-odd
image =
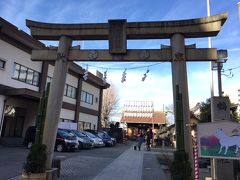
[{"label": "blue sky with white clouds above and through the gate", "polygon": [[[228,12],[229,17],[217,37],[212,38],[212,47],[227,49],[229,59],[224,69],[240,66],[240,20],[238,0],[211,0],[211,14]],[[105,23],[108,19],[127,19],[128,22],[166,21],[201,18],[207,16],[207,0],[1,0],[0,16],[29,33],[25,20],[49,23]],[[186,44],[196,43],[197,47],[207,48],[207,38],[187,39]],[[48,42],[48,44],[56,44]],[[77,41],[84,49],[106,49],[106,41]],[[128,48],[151,49],[161,44],[169,45],[169,40],[128,41]],[[87,63],[90,71],[103,72],[108,69],[107,80],[114,84],[121,99],[153,100],[155,109],[162,110],[172,104],[171,64],[162,63],[150,66],[148,76],[141,81],[147,67],[153,63]],[[86,68],[86,63],[81,64]],[[93,67],[94,66],[94,67]],[[142,67],[129,69],[130,67]],[[112,69],[117,68],[117,69]],[[127,68],[127,80],[121,83],[123,70]],[[210,97],[210,71],[208,62],[187,64],[190,106]],[[229,73],[226,71],[225,73]],[[240,68],[232,70],[234,76],[222,76],[223,91],[233,102],[237,102],[240,88]],[[217,83],[215,80],[215,94]]]}]

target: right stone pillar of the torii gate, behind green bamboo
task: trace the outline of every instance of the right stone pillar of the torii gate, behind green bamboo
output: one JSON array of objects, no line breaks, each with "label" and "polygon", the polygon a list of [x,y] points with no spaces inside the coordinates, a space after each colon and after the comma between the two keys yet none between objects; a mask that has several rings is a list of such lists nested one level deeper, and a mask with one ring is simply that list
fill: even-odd
[{"label": "right stone pillar of the torii gate, behind green bamboo", "polygon": [[[185,58],[185,43],[182,34],[174,34],[171,37],[172,48],[172,83],[174,96],[174,115],[176,116],[176,86],[179,86],[179,93],[182,94],[183,121],[184,121],[184,147],[188,153],[189,161],[193,168],[193,146],[190,125],[190,110],[188,98],[187,67]],[[194,168],[193,168],[194,169]]]}]

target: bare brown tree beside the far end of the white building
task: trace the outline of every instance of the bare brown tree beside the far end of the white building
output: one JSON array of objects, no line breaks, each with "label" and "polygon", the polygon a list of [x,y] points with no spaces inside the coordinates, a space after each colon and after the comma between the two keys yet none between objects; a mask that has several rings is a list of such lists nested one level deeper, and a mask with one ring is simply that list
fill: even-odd
[{"label": "bare brown tree beside the far end of the white building", "polygon": [[118,108],[118,95],[116,89],[111,85],[110,88],[103,90],[101,122],[103,127],[108,126],[111,115]]}]

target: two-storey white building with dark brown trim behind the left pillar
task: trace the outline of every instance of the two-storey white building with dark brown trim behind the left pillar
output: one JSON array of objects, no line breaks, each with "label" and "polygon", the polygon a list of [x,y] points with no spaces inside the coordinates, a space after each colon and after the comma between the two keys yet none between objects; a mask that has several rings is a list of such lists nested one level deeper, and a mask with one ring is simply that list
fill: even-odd
[{"label": "two-storey white building with dark brown trim behind the left pillar", "polygon": [[[44,44],[0,18],[0,135],[1,140],[22,140],[29,126],[35,125],[40,97],[51,82],[54,62],[31,61],[32,49]],[[69,63],[59,126],[97,129],[100,125],[103,89],[101,77]]]}]

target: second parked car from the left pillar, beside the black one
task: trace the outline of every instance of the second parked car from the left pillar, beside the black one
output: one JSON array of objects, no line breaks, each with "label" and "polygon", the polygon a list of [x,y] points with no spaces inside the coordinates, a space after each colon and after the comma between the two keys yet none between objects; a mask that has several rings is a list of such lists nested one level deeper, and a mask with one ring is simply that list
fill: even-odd
[{"label": "second parked car from the left pillar, beside the black one", "polygon": [[74,131],[74,130],[67,130],[67,132],[75,135],[77,137],[79,146],[79,149],[89,149],[91,147],[94,147],[94,143],[93,141],[87,137],[85,134],[78,132],[78,131]]}]

